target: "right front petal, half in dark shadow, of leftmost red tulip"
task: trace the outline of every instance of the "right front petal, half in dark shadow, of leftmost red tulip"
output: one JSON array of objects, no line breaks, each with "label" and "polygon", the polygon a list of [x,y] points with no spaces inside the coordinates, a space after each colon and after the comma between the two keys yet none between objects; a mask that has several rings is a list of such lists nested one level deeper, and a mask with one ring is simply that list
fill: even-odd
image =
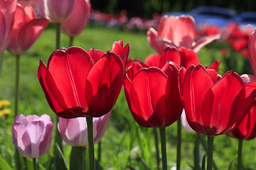
[{"label": "right front petal, half in dark shadow, of leftmost red tulip", "polygon": [[124,77],[124,65],[114,52],[107,52],[94,64],[85,83],[85,98],[90,115],[108,113],[119,96]]}]

